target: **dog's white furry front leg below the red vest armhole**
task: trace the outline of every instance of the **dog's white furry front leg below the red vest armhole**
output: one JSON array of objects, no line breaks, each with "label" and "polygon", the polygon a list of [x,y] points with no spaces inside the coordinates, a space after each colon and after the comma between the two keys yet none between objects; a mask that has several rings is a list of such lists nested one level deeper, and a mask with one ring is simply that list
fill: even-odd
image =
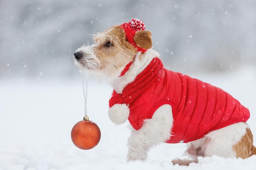
[{"label": "dog's white furry front leg below the red vest armhole", "polygon": [[172,108],[165,104],[155,111],[151,119],[144,121],[141,129],[132,129],[128,139],[128,161],[146,159],[149,148],[170,138],[172,125]]}]

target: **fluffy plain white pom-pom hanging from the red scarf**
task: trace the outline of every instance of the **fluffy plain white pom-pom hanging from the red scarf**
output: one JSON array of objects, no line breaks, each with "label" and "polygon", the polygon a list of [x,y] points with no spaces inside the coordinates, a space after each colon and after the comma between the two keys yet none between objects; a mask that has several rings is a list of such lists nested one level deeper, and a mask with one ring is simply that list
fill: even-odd
[{"label": "fluffy plain white pom-pom hanging from the red scarf", "polygon": [[130,114],[130,109],[126,104],[115,104],[108,110],[108,117],[114,124],[123,124]]}]

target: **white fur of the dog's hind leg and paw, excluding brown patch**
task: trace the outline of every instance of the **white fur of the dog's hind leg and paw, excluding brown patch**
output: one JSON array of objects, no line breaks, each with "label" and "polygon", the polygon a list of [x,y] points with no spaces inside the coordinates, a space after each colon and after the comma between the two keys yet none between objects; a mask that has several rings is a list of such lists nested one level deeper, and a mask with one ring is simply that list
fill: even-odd
[{"label": "white fur of the dog's hind leg and paw, excluding brown patch", "polygon": [[[192,162],[198,162],[197,157],[199,156],[211,157],[213,155],[235,158],[236,153],[232,146],[240,141],[245,135],[247,128],[249,128],[247,124],[239,122],[211,131],[205,135],[205,137],[187,143],[187,150],[185,151],[184,156],[189,156],[190,160],[174,159],[172,162],[174,164],[188,165]],[[200,155],[198,155],[196,151],[198,148],[201,148]]]}]

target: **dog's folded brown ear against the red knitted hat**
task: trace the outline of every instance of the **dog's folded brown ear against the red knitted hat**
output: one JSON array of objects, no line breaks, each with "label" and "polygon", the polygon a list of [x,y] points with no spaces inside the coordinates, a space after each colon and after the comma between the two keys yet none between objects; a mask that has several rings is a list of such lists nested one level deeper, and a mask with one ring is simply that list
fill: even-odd
[{"label": "dog's folded brown ear against the red knitted hat", "polygon": [[152,48],[151,32],[146,30],[137,31],[133,37],[134,42],[137,46],[142,49]]}]

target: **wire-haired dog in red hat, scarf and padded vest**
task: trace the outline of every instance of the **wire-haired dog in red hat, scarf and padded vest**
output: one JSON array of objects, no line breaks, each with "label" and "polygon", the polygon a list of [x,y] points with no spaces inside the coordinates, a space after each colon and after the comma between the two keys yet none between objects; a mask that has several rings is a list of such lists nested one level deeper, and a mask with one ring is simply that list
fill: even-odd
[{"label": "wire-haired dog in red hat, scarf and padded vest", "polygon": [[163,68],[141,20],[111,26],[93,39],[75,51],[74,62],[112,85],[108,116],[131,125],[128,161],[145,160],[161,142],[187,143],[189,159],[172,161],[183,166],[198,163],[198,157],[256,155],[245,123],[249,110],[220,88]]}]

